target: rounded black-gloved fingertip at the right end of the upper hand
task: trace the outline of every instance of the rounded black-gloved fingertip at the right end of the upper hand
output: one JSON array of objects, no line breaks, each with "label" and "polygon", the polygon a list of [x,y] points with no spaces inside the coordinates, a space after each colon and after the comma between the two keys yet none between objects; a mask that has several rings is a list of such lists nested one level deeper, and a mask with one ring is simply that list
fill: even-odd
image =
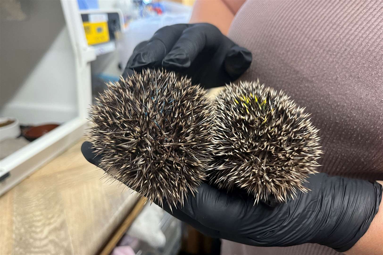
[{"label": "rounded black-gloved fingertip at the right end of the upper hand", "polygon": [[226,54],[224,67],[232,80],[236,80],[249,68],[251,61],[252,55],[249,50],[234,45]]}]

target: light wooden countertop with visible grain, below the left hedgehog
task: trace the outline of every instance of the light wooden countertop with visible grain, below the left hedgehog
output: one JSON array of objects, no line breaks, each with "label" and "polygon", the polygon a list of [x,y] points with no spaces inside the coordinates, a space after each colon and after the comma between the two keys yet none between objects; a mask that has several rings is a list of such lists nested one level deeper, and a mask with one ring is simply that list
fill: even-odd
[{"label": "light wooden countertop with visible grain, below the left hedgehog", "polygon": [[94,254],[126,219],[136,194],[106,183],[82,142],[0,197],[0,254]]}]

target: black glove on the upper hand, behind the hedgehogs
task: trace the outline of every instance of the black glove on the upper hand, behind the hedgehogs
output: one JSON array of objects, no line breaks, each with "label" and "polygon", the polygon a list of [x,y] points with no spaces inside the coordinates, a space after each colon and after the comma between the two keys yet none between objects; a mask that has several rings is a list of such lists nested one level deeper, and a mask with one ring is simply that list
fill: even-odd
[{"label": "black glove on the upper hand, behind the hedgehogs", "polygon": [[251,63],[251,53],[208,23],[165,26],[134,48],[123,77],[146,67],[164,67],[207,88],[236,80]]}]

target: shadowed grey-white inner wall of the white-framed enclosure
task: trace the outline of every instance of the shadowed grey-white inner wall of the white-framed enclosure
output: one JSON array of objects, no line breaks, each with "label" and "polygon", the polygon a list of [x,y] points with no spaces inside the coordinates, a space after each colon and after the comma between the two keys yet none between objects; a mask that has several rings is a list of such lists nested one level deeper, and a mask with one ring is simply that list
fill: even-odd
[{"label": "shadowed grey-white inner wall of the white-framed enclosure", "polygon": [[77,116],[77,94],[61,3],[33,0],[26,8],[25,21],[0,20],[0,115],[62,123]]}]

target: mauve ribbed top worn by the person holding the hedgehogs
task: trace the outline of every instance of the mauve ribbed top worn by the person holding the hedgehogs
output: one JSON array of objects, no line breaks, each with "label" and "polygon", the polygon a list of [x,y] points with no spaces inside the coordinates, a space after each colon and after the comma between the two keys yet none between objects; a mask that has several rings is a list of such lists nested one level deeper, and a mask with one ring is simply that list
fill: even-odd
[{"label": "mauve ribbed top worn by the person holding the hedgehogs", "polygon": [[[383,180],[383,1],[248,0],[229,37],[252,52],[241,79],[282,89],[312,113],[324,150],[319,171]],[[226,240],[221,253],[340,254]]]}]

